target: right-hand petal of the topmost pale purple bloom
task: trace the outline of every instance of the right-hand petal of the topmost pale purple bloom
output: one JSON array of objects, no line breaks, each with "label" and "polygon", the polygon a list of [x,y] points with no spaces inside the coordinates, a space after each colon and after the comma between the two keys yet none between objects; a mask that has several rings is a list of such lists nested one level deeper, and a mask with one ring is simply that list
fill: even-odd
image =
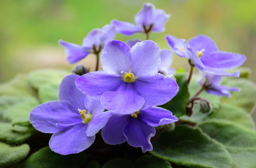
[{"label": "right-hand petal of the topmost pale purple bloom", "polygon": [[156,9],[154,11],[154,30],[155,32],[165,31],[166,27],[164,25],[169,20],[170,14],[166,14],[166,12],[162,9]]}]

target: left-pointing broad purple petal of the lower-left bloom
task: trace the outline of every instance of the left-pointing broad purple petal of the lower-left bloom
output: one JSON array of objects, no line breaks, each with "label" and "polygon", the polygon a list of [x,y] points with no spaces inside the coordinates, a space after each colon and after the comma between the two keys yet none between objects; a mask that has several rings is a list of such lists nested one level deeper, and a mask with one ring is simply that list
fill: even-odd
[{"label": "left-pointing broad purple petal of the lower-left bloom", "polygon": [[[74,125],[82,123],[79,111],[74,113],[73,107],[68,102],[52,101],[36,106],[29,116],[29,122],[36,130],[44,133],[59,132],[64,128],[57,125]],[[75,112],[76,112],[75,111]]]}]

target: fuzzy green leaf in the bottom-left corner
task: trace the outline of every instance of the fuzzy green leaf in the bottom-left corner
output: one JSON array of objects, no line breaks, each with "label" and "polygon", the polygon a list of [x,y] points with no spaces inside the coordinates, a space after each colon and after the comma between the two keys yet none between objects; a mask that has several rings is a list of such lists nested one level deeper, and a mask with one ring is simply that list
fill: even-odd
[{"label": "fuzzy green leaf in the bottom-left corner", "polygon": [[29,153],[29,146],[9,146],[0,142],[0,167],[8,167],[26,158]]}]

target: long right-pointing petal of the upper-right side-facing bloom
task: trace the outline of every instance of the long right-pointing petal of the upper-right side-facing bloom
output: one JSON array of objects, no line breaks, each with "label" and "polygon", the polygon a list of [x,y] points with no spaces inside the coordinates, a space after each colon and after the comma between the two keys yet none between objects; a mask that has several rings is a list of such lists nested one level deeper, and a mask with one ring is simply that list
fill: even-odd
[{"label": "long right-pointing petal of the upper-right side-facing bloom", "polygon": [[224,51],[215,51],[201,57],[203,64],[216,69],[234,69],[241,66],[245,59],[244,55]]}]

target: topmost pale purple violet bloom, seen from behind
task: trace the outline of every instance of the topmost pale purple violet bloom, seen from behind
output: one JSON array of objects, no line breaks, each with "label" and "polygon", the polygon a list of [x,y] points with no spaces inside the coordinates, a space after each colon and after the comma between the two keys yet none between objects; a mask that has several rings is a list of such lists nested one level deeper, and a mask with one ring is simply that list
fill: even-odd
[{"label": "topmost pale purple violet bloom, seen from behind", "polygon": [[169,18],[170,14],[167,15],[164,10],[156,9],[151,3],[145,3],[140,12],[135,16],[136,25],[118,20],[113,20],[112,25],[116,27],[116,31],[119,33],[130,36],[134,33],[165,31],[164,25]]}]

